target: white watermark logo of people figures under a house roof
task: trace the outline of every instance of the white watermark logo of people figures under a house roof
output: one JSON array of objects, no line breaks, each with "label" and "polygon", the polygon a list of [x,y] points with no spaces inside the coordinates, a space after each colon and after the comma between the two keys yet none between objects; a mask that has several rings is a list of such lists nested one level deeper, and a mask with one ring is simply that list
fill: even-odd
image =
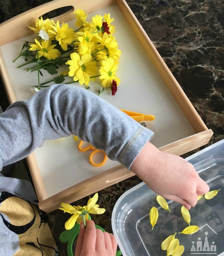
[{"label": "white watermark logo of people figures under a house roof", "polygon": [[[217,235],[217,233],[208,224],[205,224],[200,229],[204,228],[205,226],[208,226],[211,229],[211,232],[214,232]],[[191,252],[190,254],[217,255],[215,242],[212,241],[212,244],[209,244],[207,235],[208,235],[208,231],[205,232],[204,243],[201,241],[200,237],[197,238],[196,242],[192,241],[192,248],[190,250],[190,252]]]}]

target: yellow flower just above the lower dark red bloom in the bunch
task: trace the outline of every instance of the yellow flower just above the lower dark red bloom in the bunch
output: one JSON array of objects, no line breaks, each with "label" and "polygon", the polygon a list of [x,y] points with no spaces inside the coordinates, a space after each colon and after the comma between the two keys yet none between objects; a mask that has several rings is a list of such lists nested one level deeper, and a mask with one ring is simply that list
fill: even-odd
[{"label": "yellow flower just above the lower dark red bloom in the bunch", "polygon": [[100,65],[99,79],[102,82],[103,87],[111,86],[113,80],[115,80],[118,85],[121,80],[116,77],[118,66],[114,64],[114,60],[112,58],[107,58],[106,60],[100,61]]}]

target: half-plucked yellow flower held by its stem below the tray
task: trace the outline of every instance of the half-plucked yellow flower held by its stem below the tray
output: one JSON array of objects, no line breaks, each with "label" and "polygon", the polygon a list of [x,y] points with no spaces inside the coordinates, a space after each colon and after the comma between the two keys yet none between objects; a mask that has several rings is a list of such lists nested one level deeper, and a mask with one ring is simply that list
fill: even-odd
[{"label": "half-plucked yellow flower held by its stem below the tray", "polygon": [[71,206],[70,204],[61,203],[61,207],[58,208],[64,213],[70,213],[72,216],[66,221],[65,228],[71,229],[74,227],[75,222],[80,224],[83,222],[83,216],[85,220],[88,220],[88,214],[103,214],[105,212],[104,208],[99,208],[99,205],[96,204],[98,200],[98,193],[96,193],[93,198],[90,198],[86,206]]}]

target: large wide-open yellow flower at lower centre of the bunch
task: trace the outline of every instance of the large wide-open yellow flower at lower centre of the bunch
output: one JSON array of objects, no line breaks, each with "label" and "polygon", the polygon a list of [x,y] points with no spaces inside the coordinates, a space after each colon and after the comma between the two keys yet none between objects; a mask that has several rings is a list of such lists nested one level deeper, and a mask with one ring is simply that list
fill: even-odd
[{"label": "large wide-open yellow flower at lower centre of the bunch", "polygon": [[66,64],[69,65],[69,76],[74,76],[74,81],[78,81],[81,85],[89,85],[90,80],[95,80],[95,78],[90,78],[90,76],[97,75],[96,61],[93,61],[91,54],[80,55],[77,52],[71,54],[71,60],[68,60]]}]

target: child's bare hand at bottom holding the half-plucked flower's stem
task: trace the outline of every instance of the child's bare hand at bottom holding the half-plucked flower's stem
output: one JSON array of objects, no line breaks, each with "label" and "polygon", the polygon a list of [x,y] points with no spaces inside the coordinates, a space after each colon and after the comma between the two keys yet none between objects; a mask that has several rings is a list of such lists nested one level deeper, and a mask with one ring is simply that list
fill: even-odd
[{"label": "child's bare hand at bottom holding the half-plucked flower's stem", "polygon": [[115,256],[117,242],[114,235],[96,229],[92,220],[80,225],[75,256]]}]

